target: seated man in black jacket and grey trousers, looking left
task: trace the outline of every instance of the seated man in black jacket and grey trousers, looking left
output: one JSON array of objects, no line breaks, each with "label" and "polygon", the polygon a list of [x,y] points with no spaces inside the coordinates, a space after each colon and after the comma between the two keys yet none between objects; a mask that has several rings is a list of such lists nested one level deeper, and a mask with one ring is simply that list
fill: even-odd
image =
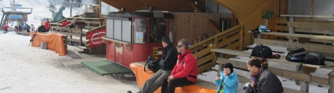
[{"label": "seated man in black jacket and grey trousers, looking left", "polygon": [[[137,93],[153,93],[162,83],[162,79],[170,75],[177,61],[177,50],[172,46],[169,37],[162,38],[162,45],[165,52],[159,61],[161,69],[158,70],[152,77],[146,80],[144,86]],[[132,93],[128,91],[128,93]]]}]

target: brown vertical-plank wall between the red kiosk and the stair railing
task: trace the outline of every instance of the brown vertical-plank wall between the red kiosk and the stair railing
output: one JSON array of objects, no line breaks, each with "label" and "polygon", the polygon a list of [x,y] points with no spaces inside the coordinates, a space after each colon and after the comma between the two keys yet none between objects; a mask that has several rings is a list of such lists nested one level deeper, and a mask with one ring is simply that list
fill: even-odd
[{"label": "brown vertical-plank wall between the red kiosk and the stair railing", "polygon": [[172,13],[173,21],[173,46],[177,45],[177,41],[186,39],[192,43],[194,38],[198,38],[200,34],[206,33],[209,37],[216,33],[208,24],[208,19],[213,24],[219,26],[219,14],[209,13]]}]

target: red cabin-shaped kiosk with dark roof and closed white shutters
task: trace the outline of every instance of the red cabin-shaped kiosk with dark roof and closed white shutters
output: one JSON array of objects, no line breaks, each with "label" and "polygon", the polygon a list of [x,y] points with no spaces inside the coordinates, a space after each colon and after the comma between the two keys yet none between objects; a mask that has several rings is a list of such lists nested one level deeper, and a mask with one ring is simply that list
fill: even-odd
[{"label": "red cabin-shaped kiosk with dark roof and closed white shutters", "polygon": [[161,39],[172,40],[173,15],[162,11],[110,12],[106,19],[107,59],[130,68],[152,56],[162,56]]}]

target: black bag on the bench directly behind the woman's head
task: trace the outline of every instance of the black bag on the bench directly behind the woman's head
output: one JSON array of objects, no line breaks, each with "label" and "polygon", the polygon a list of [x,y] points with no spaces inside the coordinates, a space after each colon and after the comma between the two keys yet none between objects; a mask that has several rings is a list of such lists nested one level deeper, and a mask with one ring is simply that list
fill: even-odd
[{"label": "black bag on the bench directly behind the woman's head", "polygon": [[[251,56],[262,57],[262,58],[269,58],[272,57],[273,51],[270,49],[269,46],[255,46],[252,50]],[[249,56],[249,58],[251,57]]]}]

